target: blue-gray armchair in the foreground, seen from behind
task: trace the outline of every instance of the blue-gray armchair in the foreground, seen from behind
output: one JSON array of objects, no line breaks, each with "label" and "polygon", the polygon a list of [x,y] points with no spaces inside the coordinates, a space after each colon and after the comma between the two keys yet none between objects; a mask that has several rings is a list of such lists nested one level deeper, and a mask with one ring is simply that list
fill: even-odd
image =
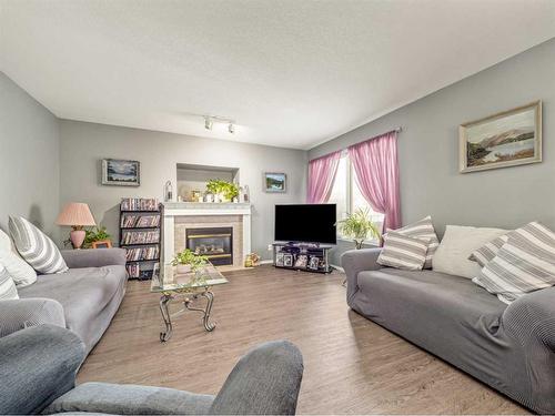
[{"label": "blue-gray armchair in the foreground, seen from behind", "polygon": [[303,375],[300,351],[280,341],[242,357],[216,396],[108,383],[73,388],[84,351],[53,325],[0,338],[0,414],[286,415],[295,413]]}]

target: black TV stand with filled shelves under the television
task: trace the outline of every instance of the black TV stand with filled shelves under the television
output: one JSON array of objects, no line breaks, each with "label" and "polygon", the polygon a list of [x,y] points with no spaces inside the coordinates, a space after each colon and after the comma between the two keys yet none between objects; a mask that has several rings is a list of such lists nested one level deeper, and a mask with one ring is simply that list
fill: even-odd
[{"label": "black TV stand with filled shelves under the television", "polygon": [[274,267],[311,273],[332,272],[329,252],[333,248],[333,245],[275,242],[272,247]]}]

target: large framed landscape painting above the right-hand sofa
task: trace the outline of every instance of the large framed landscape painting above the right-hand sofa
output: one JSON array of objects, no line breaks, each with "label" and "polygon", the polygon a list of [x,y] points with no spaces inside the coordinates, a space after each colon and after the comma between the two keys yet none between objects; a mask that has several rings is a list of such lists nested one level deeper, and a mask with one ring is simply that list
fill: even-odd
[{"label": "large framed landscape painting above the right-hand sofa", "polygon": [[542,162],[542,101],[458,128],[460,172]]}]

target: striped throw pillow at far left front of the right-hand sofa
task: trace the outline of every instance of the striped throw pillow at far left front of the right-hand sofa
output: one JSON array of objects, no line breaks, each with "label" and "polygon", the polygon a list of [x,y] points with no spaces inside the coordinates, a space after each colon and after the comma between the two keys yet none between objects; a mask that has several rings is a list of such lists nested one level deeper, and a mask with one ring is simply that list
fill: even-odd
[{"label": "striped throw pillow at far left front of the right-hand sofa", "polygon": [[411,237],[394,231],[384,237],[377,264],[403,270],[422,270],[430,240]]}]

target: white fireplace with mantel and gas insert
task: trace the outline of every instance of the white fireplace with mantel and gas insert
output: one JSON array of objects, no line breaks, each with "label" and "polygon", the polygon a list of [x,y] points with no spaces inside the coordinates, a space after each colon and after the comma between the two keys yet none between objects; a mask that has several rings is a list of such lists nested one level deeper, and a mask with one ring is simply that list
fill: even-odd
[{"label": "white fireplace with mantel and gas insert", "polygon": [[171,262],[175,253],[188,247],[192,235],[206,236],[208,242],[200,250],[208,250],[206,246],[210,248],[213,235],[208,230],[221,229],[229,230],[226,234],[231,235],[230,245],[233,247],[231,264],[222,267],[242,268],[245,255],[251,252],[251,204],[164,202],[161,261]]}]

